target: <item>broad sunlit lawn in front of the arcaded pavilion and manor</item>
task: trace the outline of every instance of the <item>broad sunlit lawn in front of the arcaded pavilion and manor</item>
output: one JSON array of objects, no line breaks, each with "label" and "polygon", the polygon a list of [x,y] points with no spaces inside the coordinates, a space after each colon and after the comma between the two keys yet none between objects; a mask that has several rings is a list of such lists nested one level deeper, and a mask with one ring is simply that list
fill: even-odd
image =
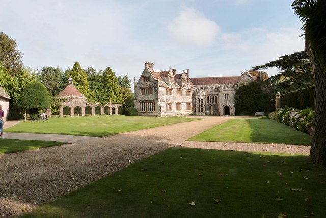
[{"label": "broad sunlit lawn in front of the arcaded pavilion and manor", "polygon": [[101,137],[133,130],[196,120],[186,117],[84,116],[49,118],[48,121],[21,121],[7,132],[48,133]]}]

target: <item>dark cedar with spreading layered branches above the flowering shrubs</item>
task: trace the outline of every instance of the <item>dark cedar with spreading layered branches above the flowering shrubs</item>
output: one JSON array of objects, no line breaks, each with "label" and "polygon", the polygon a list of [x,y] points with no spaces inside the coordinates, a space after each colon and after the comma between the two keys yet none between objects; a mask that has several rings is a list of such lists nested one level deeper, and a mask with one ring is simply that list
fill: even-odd
[{"label": "dark cedar with spreading layered branches above the flowering shrubs", "polygon": [[254,70],[278,68],[279,74],[271,76],[266,83],[279,93],[287,93],[314,86],[312,66],[306,51],[283,55],[276,61],[255,66]]}]

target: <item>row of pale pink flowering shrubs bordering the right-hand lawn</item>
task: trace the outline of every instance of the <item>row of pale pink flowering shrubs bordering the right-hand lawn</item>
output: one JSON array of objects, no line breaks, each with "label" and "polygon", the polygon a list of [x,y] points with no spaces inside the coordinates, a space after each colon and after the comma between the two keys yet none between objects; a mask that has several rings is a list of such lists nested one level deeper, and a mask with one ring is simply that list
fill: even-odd
[{"label": "row of pale pink flowering shrubs bordering the right-hand lawn", "polygon": [[311,108],[295,110],[281,108],[269,114],[269,118],[294,129],[312,135],[315,112]]}]

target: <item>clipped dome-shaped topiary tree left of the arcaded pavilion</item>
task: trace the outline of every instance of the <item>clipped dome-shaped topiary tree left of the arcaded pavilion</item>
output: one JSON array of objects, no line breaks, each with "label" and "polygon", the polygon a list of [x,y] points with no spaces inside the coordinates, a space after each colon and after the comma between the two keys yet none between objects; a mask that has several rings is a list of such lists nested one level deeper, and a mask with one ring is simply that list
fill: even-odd
[{"label": "clipped dome-shaped topiary tree left of the arcaded pavilion", "polygon": [[50,107],[50,99],[46,87],[38,81],[27,84],[19,96],[17,105],[22,109],[30,109],[30,117],[37,114],[38,118],[39,109]]}]

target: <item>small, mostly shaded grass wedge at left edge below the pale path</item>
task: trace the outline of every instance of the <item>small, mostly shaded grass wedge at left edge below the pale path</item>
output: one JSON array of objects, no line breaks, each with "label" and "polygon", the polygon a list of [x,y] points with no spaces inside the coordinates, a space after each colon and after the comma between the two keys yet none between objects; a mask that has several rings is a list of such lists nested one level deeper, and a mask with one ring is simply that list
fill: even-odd
[{"label": "small, mostly shaded grass wedge at left edge below the pale path", "polygon": [[50,146],[59,146],[60,144],[64,143],[57,141],[0,139],[0,154],[21,152],[31,149],[40,149]]}]

